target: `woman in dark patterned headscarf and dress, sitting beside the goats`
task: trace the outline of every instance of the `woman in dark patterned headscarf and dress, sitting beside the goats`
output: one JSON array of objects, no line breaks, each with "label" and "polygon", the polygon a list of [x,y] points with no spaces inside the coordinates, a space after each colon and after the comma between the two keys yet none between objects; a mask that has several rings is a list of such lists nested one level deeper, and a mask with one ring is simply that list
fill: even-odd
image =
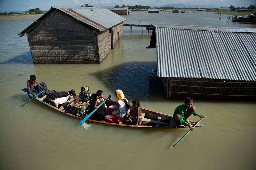
[{"label": "woman in dark patterned headscarf and dress, sitting beside the goats", "polygon": [[77,116],[84,116],[86,114],[87,107],[90,103],[92,94],[89,92],[88,86],[81,87],[81,92],[78,95],[77,103],[74,105],[77,108]]}]

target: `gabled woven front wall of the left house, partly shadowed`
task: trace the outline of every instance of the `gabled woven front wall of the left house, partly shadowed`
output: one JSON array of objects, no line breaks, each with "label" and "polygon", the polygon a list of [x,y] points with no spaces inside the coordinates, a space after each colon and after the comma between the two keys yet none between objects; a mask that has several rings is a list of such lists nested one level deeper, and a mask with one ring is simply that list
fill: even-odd
[{"label": "gabled woven front wall of the left house, partly shadowed", "polygon": [[60,11],[52,11],[28,34],[35,64],[99,63],[97,36]]}]

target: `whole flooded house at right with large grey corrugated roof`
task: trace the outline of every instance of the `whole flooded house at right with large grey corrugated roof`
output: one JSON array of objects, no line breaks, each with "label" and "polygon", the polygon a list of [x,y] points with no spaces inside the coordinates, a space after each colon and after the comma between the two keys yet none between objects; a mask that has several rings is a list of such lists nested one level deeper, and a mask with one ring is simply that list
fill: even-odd
[{"label": "whole flooded house at right with large grey corrugated roof", "polygon": [[146,48],[168,99],[255,101],[256,29],[153,26]]}]

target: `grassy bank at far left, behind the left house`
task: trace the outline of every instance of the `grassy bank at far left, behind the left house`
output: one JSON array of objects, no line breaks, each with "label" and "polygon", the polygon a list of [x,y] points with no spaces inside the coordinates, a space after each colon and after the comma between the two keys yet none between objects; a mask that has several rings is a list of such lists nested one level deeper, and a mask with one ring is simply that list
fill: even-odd
[{"label": "grassy bank at far left, behind the left house", "polygon": [[43,14],[20,14],[20,15],[0,15],[0,21],[14,21],[23,19],[39,18]]}]

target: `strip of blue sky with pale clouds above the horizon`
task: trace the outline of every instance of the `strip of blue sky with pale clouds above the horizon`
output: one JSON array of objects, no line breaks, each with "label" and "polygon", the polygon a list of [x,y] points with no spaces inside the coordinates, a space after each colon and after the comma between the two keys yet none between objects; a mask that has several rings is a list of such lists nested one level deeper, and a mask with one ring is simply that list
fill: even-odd
[{"label": "strip of blue sky with pale clouds above the horizon", "polygon": [[248,7],[249,4],[256,4],[256,0],[0,0],[0,11],[28,11],[33,8],[49,10],[51,6],[80,7],[89,4],[94,7],[112,6],[116,4],[125,5],[166,5],[166,4],[185,4],[185,5],[219,5],[228,7]]}]

